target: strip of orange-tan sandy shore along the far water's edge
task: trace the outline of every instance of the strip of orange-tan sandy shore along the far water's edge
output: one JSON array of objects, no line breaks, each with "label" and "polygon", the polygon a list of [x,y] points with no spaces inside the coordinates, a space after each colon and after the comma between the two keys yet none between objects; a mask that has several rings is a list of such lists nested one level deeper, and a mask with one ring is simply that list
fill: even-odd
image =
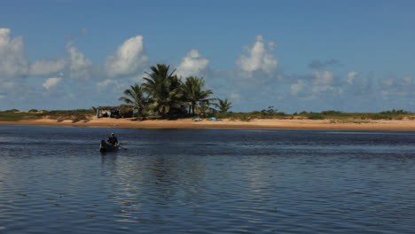
[{"label": "strip of orange-tan sandy shore along the far water's edge", "polygon": [[415,131],[415,121],[364,121],[333,122],[327,120],[281,120],[261,119],[252,121],[175,121],[134,119],[93,118],[90,121],[56,121],[41,119],[32,121],[0,121],[0,125],[66,126],[90,128],[128,128],[128,129],[333,129],[333,130],[396,130]]}]

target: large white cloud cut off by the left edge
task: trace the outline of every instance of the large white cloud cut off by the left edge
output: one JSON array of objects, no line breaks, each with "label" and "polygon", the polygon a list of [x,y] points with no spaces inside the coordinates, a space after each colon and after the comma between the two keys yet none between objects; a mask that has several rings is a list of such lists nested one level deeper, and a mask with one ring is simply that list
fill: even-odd
[{"label": "large white cloud cut off by the left edge", "polygon": [[27,74],[28,62],[21,36],[11,38],[9,28],[0,28],[0,76],[6,78]]}]

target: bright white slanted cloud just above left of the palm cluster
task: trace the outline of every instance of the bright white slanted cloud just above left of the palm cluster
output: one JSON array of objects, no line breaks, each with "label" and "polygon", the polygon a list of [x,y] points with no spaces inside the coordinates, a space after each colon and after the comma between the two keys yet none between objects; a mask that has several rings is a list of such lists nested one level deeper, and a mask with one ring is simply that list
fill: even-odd
[{"label": "bright white slanted cloud just above left of the palm cluster", "polygon": [[109,76],[135,74],[148,62],[145,55],[143,36],[137,35],[121,44],[114,55],[106,58],[106,71]]}]

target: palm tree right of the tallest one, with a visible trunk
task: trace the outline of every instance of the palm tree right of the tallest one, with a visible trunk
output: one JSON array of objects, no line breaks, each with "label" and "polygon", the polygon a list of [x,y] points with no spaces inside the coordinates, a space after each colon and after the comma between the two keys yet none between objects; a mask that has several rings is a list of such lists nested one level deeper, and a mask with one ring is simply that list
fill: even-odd
[{"label": "palm tree right of the tallest one, with a visible trunk", "polygon": [[202,78],[189,76],[183,83],[184,100],[189,105],[189,113],[194,115],[194,108],[198,103],[212,100],[209,96],[213,94],[212,90],[202,90],[205,81]]}]

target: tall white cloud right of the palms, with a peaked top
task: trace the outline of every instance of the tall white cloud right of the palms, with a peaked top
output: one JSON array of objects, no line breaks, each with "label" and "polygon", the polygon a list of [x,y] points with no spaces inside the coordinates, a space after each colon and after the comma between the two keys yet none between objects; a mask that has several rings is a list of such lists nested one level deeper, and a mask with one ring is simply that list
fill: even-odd
[{"label": "tall white cloud right of the palms, with a peaked top", "polygon": [[252,48],[247,48],[248,56],[242,55],[237,65],[242,71],[248,73],[262,71],[271,74],[277,68],[277,59],[270,53],[274,48],[275,43],[270,42],[267,50],[262,35],[258,35]]}]

